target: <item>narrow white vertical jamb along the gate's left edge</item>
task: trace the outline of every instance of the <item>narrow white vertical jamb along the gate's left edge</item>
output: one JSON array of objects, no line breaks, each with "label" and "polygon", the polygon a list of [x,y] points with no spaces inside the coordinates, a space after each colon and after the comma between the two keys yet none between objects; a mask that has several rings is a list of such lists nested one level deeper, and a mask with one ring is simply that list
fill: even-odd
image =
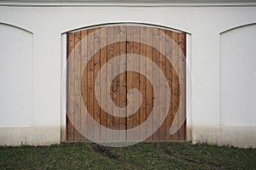
[{"label": "narrow white vertical jamb along the gate's left edge", "polygon": [[61,141],[66,141],[67,34],[61,34]]}]

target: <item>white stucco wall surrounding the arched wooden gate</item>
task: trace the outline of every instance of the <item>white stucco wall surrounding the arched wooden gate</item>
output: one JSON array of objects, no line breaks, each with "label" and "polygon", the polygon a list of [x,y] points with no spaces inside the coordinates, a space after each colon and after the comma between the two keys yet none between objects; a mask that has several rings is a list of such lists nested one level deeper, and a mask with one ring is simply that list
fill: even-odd
[{"label": "white stucco wall surrounding the arched wooden gate", "polygon": [[[65,112],[61,110],[64,107],[61,105],[61,69],[63,69],[61,60],[64,57],[61,56],[61,34],[84,26],[117,22],[147,23],[188,32],[190,34],[188,44],[190,44],[189,59],[192,72],[192,82],[189,87],[191,88],[192,105],[188,113],[190,139],[193,143],[256,146],[255,93],[253,94],[255,85],[249,85],[253,90],[252,94],[244,94],[244,98],[254,99],[251,105],[240,105],[239,100],[235,100],[235,103],[233,101],[224,102],[228,95],[225,89],[230,83],[229,79],[224,79],[224,77],[230,78],[228,72],[230,70],[226,66],[230,66],[229,57],[236,52],[233,49],[236,48],[237,52],[243,50],[248,55],[254,54],[254,58],[247,58],[252,59],[251,62],[255,61],[256,57],[254,51],[250,51],[252,46],[245,45],[240,50],[237,48],[237,44],[229,45],[229,42],[233,42],[233,35],[238,39],[240,34],[255,37],[255,26],[248,28],[245,33],[244,31],[227,30],[256,23],[255,6],[202,5],[194,7],[188,4],[184,6],[159,5],[157,7],[149,5],[147,7],[147,5],[129,4],[128,7],[121,4],[112,7],[111,5],[101,6],[91,3],[90,6],[86,6],[85,3],[83,7],[0,6],[0,23],[18,26],[32,33],[32,72],[26,75],[32,75],[32,83],[27,82],[28,86],[32,88],[26,88],[32,89],[32,105],[29,105],[29,102],[26,103],[27,109],[32,111],[32,123],[29,127],[22,127],[19,124],[22,114],[15,109],[1,113],[0,144],[54,144],[61,142],[61,116],[65,116]],[[0,35],[2,36],[2,34]],[[3,46],[2,37],[0,39],[0,46]],[[248,37],[248,44],[253,43],[255,44],[255,39]],[[8,52],[3,50],[0,55],[1,59],[5,53]],[[243,52],[241,53],[243,54]],[[16,52],[16,54],[19,53]],[[239,59],[237,54],[234,67],[241,62]],[[26,65],[25,60],[20,62]],[[9,63],[0,65],[11,68],[12,65]],[[255,65],[248,66],[250,69],[243,70],[241,77],[247,74],[247,71],[252,78],[255,77],[254,72],[250,72],[253,71]],[[242,68],[247,68],[247,64],[243,64]],[[20,77],[24,74],[26,71],[17,72],[17,76]],[[2,75],[9,77],[13,75],[13,72],[1,73],[1,77]],[[245,81],[254,81],[250,77],[245,77],[245,79]],[[245,84],[240,85],[246,86]],[[230,88],[232,91],[237,87],[231,86]],[[12,92],[13,89],[12,86],[9,86],[8,91]],[[1,95],[0,101],[6,97],[10,98],[9,95],[15,94]],[[17,100],[14,102],[18,104]],[[229,119],[230,113],[226,112],[226,109],[234,109],[234,105],[248,106],[251,109],[245,114],[246,116],[253,115],[253,117],[245,118],[242,124],[236,124],[241,120],[241,113],[235,112],[234,117]],[[1,103],[0,106],[2,108],[3,104]],[[17,120],[12,122],[17,124],[12,124],[10,127],[5,126],[9,122],[7,118],[9,114],[15,116]]]}]

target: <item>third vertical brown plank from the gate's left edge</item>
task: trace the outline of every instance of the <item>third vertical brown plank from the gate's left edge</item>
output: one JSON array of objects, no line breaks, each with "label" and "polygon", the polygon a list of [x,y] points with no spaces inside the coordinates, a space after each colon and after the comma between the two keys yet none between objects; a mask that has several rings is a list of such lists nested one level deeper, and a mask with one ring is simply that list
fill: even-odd
[{"label": "third vertical brown plank from the gate's left edge", "polygon": [[[87,56],[87,30],[81,31],[81,76],[84,73],[84,68],[85,63],[88,61],[88,56]],[[87,71],[86,71],[87,74]],[[81,107],[81,131],[84,133],[87,132],[87,115],[85,115],[84,109],[86,108],[88,102],[88,94],[87,94],[87,77],[85,77],[83,80],[84,82],[84,91],[82,91],[81,95],[81,105],[84,105],[84,107]],[[84,102],[84,103],[83,103]],[[81,134],[81,141],[87,141],[87,139],[84,137],[84,135]]]}]

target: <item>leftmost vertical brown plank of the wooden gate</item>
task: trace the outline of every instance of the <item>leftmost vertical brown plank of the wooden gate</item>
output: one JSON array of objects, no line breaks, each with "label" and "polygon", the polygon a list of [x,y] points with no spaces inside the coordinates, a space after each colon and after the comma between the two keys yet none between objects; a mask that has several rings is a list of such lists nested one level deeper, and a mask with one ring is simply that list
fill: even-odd
[{"label": "leftmost vertical brown plank of the wooden gate", "polygon": [[[67,56],[74,48],[74,33],[67,34]],[[67,140],[73,140],[73,112],[74,112],[74,59],[67,58]]]}]

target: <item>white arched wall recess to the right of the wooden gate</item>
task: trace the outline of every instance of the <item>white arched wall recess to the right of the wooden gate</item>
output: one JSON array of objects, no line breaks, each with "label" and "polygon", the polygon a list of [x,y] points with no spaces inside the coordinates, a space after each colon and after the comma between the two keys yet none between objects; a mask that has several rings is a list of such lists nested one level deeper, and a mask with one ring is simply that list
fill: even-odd
[{"label": "white arched wall recess to the right of the wooden gate", "polygon": [[256,23],[220,34],[223,126],[256,126]]}]

